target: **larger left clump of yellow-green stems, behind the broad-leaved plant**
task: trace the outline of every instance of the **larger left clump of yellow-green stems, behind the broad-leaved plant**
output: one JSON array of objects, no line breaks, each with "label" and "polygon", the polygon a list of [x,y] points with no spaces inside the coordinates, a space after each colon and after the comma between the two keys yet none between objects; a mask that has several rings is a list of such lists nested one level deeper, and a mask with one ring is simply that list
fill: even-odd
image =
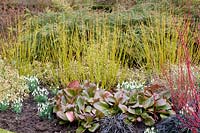
[{"label": "larger left clump of yellow-green stems, behind the broad-leaved plant", "polygon": [[53,63],[51,70],[63,84],[88,79],[104,87],[127,77],[125,54],[131,44],[121,40],[124,33],[117,24],[111,28],[106,18],[103,24],[91,26],[79,25],[77,19],[72,20],[72,26],[65,21],[41,26],[39,20],[32,27],[32,22],[28,21],[25,29],[19,23],[17,40],[10,52],[5,52],[16,61],[21,74],[30,74],[31,63],[39,61]]}]

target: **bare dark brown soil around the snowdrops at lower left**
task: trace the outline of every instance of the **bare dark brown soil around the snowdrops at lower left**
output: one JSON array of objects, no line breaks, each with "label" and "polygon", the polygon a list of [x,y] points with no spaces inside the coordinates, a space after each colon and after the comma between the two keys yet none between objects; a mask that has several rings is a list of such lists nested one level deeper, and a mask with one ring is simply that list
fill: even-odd
[{"label": "bare dark brown soil around the snowdrops at lower left", "polygon": [[41,119],[37,115],[37,105],[30,97],[23,102],[21,114],[17,115],[11,110],[0,112],[0,128],[16,133],[74,133],[77,124],[59,125],[57,119]]}]

